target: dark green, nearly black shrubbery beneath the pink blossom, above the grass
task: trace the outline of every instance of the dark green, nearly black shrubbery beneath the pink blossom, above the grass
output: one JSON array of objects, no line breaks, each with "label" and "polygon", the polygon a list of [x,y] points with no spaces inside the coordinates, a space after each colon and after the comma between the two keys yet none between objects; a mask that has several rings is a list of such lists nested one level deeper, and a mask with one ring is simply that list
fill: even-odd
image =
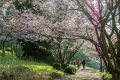
[{"label": "dark green, nearly black shrubbery beneath the pink blossom, above the grass", "polygon": [[[24,41],[20,40],[19,42],[22,46],[23,54],[21,57],[24,58],[33,58],[37,61],[44,61],[49,64],[54,63],[54,58],[51,55],[50,49],[50,41]],[[53,62],[52,62],[53,61]]]}]

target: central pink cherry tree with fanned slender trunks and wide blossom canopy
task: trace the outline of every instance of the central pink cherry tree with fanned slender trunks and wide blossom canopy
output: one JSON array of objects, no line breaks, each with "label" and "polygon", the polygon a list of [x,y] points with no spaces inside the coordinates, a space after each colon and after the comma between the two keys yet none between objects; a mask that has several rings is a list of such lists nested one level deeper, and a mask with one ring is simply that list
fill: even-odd
[{"label": "central pink cherry tree with fanned slender trunks and wide blossom canopy", "polygon": [[33,0],[30,2],[32,7],[29,8],[25,4],[24,1],[19,0],[14,2],[16,12],[9,20],[9,24],[13,26],[14,37],[29,41],[53,38],[56,48],[52,52],[56,61],[60,64],[69,63],[83,44],[80,41],[76,44],[78,42],[76,40],[72,42],[72,34],[79,33],[71,23],[72,17],[70,16],[73,11],[69,13],[68,9],[72,5],[68,7],[63,0]]}]

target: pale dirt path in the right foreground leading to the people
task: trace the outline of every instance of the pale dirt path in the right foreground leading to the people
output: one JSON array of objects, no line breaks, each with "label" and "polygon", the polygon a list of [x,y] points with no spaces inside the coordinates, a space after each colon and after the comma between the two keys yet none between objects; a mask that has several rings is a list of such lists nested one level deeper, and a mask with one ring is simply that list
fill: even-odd
[{"label": "pale dirt path in the right foreground leading to the people", "polygon": [[102,80],[101,75],[94,69],[79,69],[75,75],[69,75],[69,80]]}]

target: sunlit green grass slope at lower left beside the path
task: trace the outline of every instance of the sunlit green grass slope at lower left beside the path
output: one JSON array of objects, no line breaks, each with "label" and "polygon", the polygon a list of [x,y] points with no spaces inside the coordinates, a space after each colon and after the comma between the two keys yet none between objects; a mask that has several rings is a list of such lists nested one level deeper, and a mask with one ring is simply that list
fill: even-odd
[{"label": "sunlit green grass slope at lower left beside the path", "polygon": [[14,75],[17,80],[29,80],[33,78],[41,80],[42,77],[50,77],[53,72],[64,75],[62,71],[58,71],[46,63],[20,60],[14,56],[0,56],[0,76],[2,76],[3,72],[7,75]]}]

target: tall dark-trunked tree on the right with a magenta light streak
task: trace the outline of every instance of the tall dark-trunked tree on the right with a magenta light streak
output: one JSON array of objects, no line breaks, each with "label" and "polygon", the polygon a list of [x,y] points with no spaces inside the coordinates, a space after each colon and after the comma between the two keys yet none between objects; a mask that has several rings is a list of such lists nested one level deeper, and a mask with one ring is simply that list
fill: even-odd
[{"label": "tall dark-trunked tree on the right with a magenta light streak", "polygon": [[112,80],[120,80],[120,0],[73,1],[91,22],[88,30],[91,29],[94,34],[91,37],[87,32],[87,36],[79,37],[94,44],[108,72],[112,74]]}]

